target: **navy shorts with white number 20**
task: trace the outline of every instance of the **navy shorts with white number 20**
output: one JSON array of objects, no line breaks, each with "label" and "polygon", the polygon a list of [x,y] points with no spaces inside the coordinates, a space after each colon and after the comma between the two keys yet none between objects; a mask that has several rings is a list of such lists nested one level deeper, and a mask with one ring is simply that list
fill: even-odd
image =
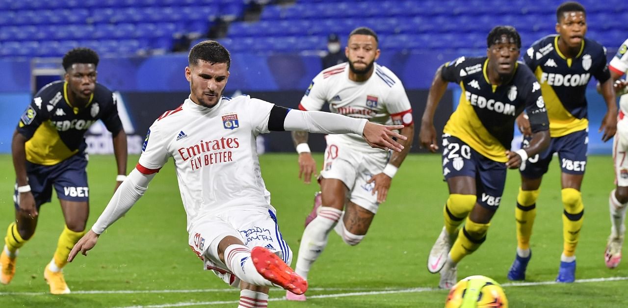
[{"label": "navy shorts with white number 20", "polygon": [[465,142],[452,135],[443,135],[443,176],[475,178],[477,203],[495,211],[506,185],[506,163],[494,161],[476,152]]}]

